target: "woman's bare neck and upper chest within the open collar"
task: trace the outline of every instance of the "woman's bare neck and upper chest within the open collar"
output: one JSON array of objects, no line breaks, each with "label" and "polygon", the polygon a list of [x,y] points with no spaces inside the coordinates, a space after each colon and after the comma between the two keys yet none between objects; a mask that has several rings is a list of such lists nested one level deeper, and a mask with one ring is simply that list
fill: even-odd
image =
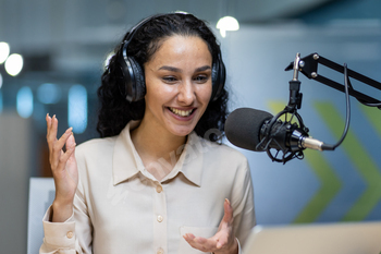
[{"label": "woman's bare neck and upper chest within the open collar", "polygon": [[177,162],[186,136],[160,132],[152,124],[142,121],[140,125],[131,132],[131,140],[146,169],[160,181]]}]

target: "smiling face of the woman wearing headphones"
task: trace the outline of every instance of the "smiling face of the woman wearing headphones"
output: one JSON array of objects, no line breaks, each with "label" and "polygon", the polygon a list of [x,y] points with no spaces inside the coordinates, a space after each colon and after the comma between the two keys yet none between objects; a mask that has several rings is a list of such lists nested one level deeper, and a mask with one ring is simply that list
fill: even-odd
[{"label": "smiling face of the woman wearing headphones", "polygon": [[211,96],[212,57],[196,36],[165,38],[145,64],[147,121],[156,131],[189,134]]}]

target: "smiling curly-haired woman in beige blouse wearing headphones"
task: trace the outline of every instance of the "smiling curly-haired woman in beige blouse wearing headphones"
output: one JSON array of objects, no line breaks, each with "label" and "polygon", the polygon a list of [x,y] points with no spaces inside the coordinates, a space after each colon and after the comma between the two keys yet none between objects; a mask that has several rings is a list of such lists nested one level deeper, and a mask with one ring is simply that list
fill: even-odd
[{"label": "smiling curly-haired woman in beige blouse wearing headphones", "polygon": [[223,85],[202,21],[171,13],[133,27],[98,89],[102,138],[75,147],[47,116],[56,198],[40,253],[239,253],[254,198],[246,158],[217,143]]}]

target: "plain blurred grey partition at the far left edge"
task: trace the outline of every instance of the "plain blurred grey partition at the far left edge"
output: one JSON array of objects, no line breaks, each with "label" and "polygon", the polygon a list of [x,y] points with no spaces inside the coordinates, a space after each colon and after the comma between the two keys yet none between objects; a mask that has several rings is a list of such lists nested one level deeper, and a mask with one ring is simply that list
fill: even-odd
[{"label": "plain blurred grey partition at the far left edge", "polygon": [[35,165],[29,120],[0,114],[1,253],[26,253],[28,182]]}]

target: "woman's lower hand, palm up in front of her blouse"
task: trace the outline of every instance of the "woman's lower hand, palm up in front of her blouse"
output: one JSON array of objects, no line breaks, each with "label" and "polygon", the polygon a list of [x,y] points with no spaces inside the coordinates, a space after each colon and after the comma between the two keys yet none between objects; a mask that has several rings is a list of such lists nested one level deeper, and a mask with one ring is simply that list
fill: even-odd
[{"label": "woman's lower hand, palm up in front of her blouse", "polygon": [[223,204],[224,216],[220,222],[217,233],[209,238],[195,237],[186,233],[183,238],[193,246],[201,252],[212,252],[214,254],[237,254],[238,243],[233,232],[233,208],[229,199]]}]

